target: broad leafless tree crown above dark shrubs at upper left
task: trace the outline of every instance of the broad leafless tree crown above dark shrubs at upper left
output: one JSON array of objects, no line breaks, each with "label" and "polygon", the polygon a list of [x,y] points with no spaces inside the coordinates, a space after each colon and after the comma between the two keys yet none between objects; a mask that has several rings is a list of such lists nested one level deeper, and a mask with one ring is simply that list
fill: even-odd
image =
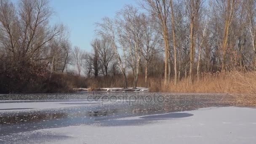
[{"label": "broad leafless tree crown above dark shrubs at upper left", "polygon": [[63,32],[62,25],[53,27],[53,12],[48,0],[21,0],[19,10],[8,0],[0,1],[1,43],[15,59],[40,61],[45,46]]}]

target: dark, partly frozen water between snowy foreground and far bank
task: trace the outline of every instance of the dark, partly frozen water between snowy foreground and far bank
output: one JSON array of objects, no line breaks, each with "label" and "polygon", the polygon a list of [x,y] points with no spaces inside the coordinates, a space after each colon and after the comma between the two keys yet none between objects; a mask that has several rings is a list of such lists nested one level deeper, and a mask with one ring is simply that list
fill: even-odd
[{"label": "dark, partly frozen water between snowy foreground and far bank", "polygon": [[[108,95],[107,95],[108,94]],[[141,98],[138,100],[138,96]],[[145,98],[145,99],[144,99]],[[147,98],[147,99],[146,99]],[[158,99],[155,101],[154,99]],[[232,97],[223,94],[168,94],[168,93],[71,93],[71,94],[19,94],[0,95],[1,103],[65,101],[77,107],[52,108],[47,110],[25,109],[8,111],[0,109],[0,139],[5,136],[45,128],[60,128],[70,125],[118,126],[148,123],[151,119],[189,117],[182,112],[203,107],[225,107],[233,105]],[[8,100],[8,101],[6,101]],[[96,100],[88,104],[88,101]],[[100,100],[100,101],[99,101]],[[122,101],[121,101],[122,100]],[[62,103],[63,104],[63,103]],[[24,110],[24,109],[23,109]],[[160,117],[145,116],[163,114]],[[116,118],[141,116],[147,121],[117,121]],[[144,117],[145,116],[145,117]]]}]

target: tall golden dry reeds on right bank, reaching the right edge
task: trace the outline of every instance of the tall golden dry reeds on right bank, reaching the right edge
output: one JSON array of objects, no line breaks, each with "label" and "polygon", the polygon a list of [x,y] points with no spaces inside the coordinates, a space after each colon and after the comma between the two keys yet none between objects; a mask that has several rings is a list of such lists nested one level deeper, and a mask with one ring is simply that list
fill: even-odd
[{"label": "tall golden dry reeds on right bank, reaching the right edge", "polygon": [[256,105],[256,72],[203,74],[191,84],[183,79],[177,85],[172,81],[165,85],[161,79],[151,79],[149,86],[151,92],[229,93],[238,105]]}]

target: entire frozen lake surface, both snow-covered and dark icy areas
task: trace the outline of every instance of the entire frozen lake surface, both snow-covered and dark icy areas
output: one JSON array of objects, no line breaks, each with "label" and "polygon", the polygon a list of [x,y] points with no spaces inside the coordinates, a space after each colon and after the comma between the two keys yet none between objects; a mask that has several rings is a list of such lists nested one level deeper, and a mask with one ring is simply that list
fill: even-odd
[{"label": "entire frozen lake surface, both snow-covered and dark icy areas", "polygon": [[254,144],[256,109],[225,94],[0,95],[0,144]]}]

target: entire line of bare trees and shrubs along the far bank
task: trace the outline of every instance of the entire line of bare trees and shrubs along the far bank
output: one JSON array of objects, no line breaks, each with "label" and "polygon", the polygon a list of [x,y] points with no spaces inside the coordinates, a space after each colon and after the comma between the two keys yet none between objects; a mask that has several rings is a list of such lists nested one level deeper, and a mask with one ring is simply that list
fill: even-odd
[{"label": "entire line of bare trees and shrubs along the far bank", "polygon": [[48,0],[0,0],[0,92],[193,84],[206,74],[255,71],[256,0],[137,4],[97,22],[85,52],[71,48],[63,24],[50,24]]}]

